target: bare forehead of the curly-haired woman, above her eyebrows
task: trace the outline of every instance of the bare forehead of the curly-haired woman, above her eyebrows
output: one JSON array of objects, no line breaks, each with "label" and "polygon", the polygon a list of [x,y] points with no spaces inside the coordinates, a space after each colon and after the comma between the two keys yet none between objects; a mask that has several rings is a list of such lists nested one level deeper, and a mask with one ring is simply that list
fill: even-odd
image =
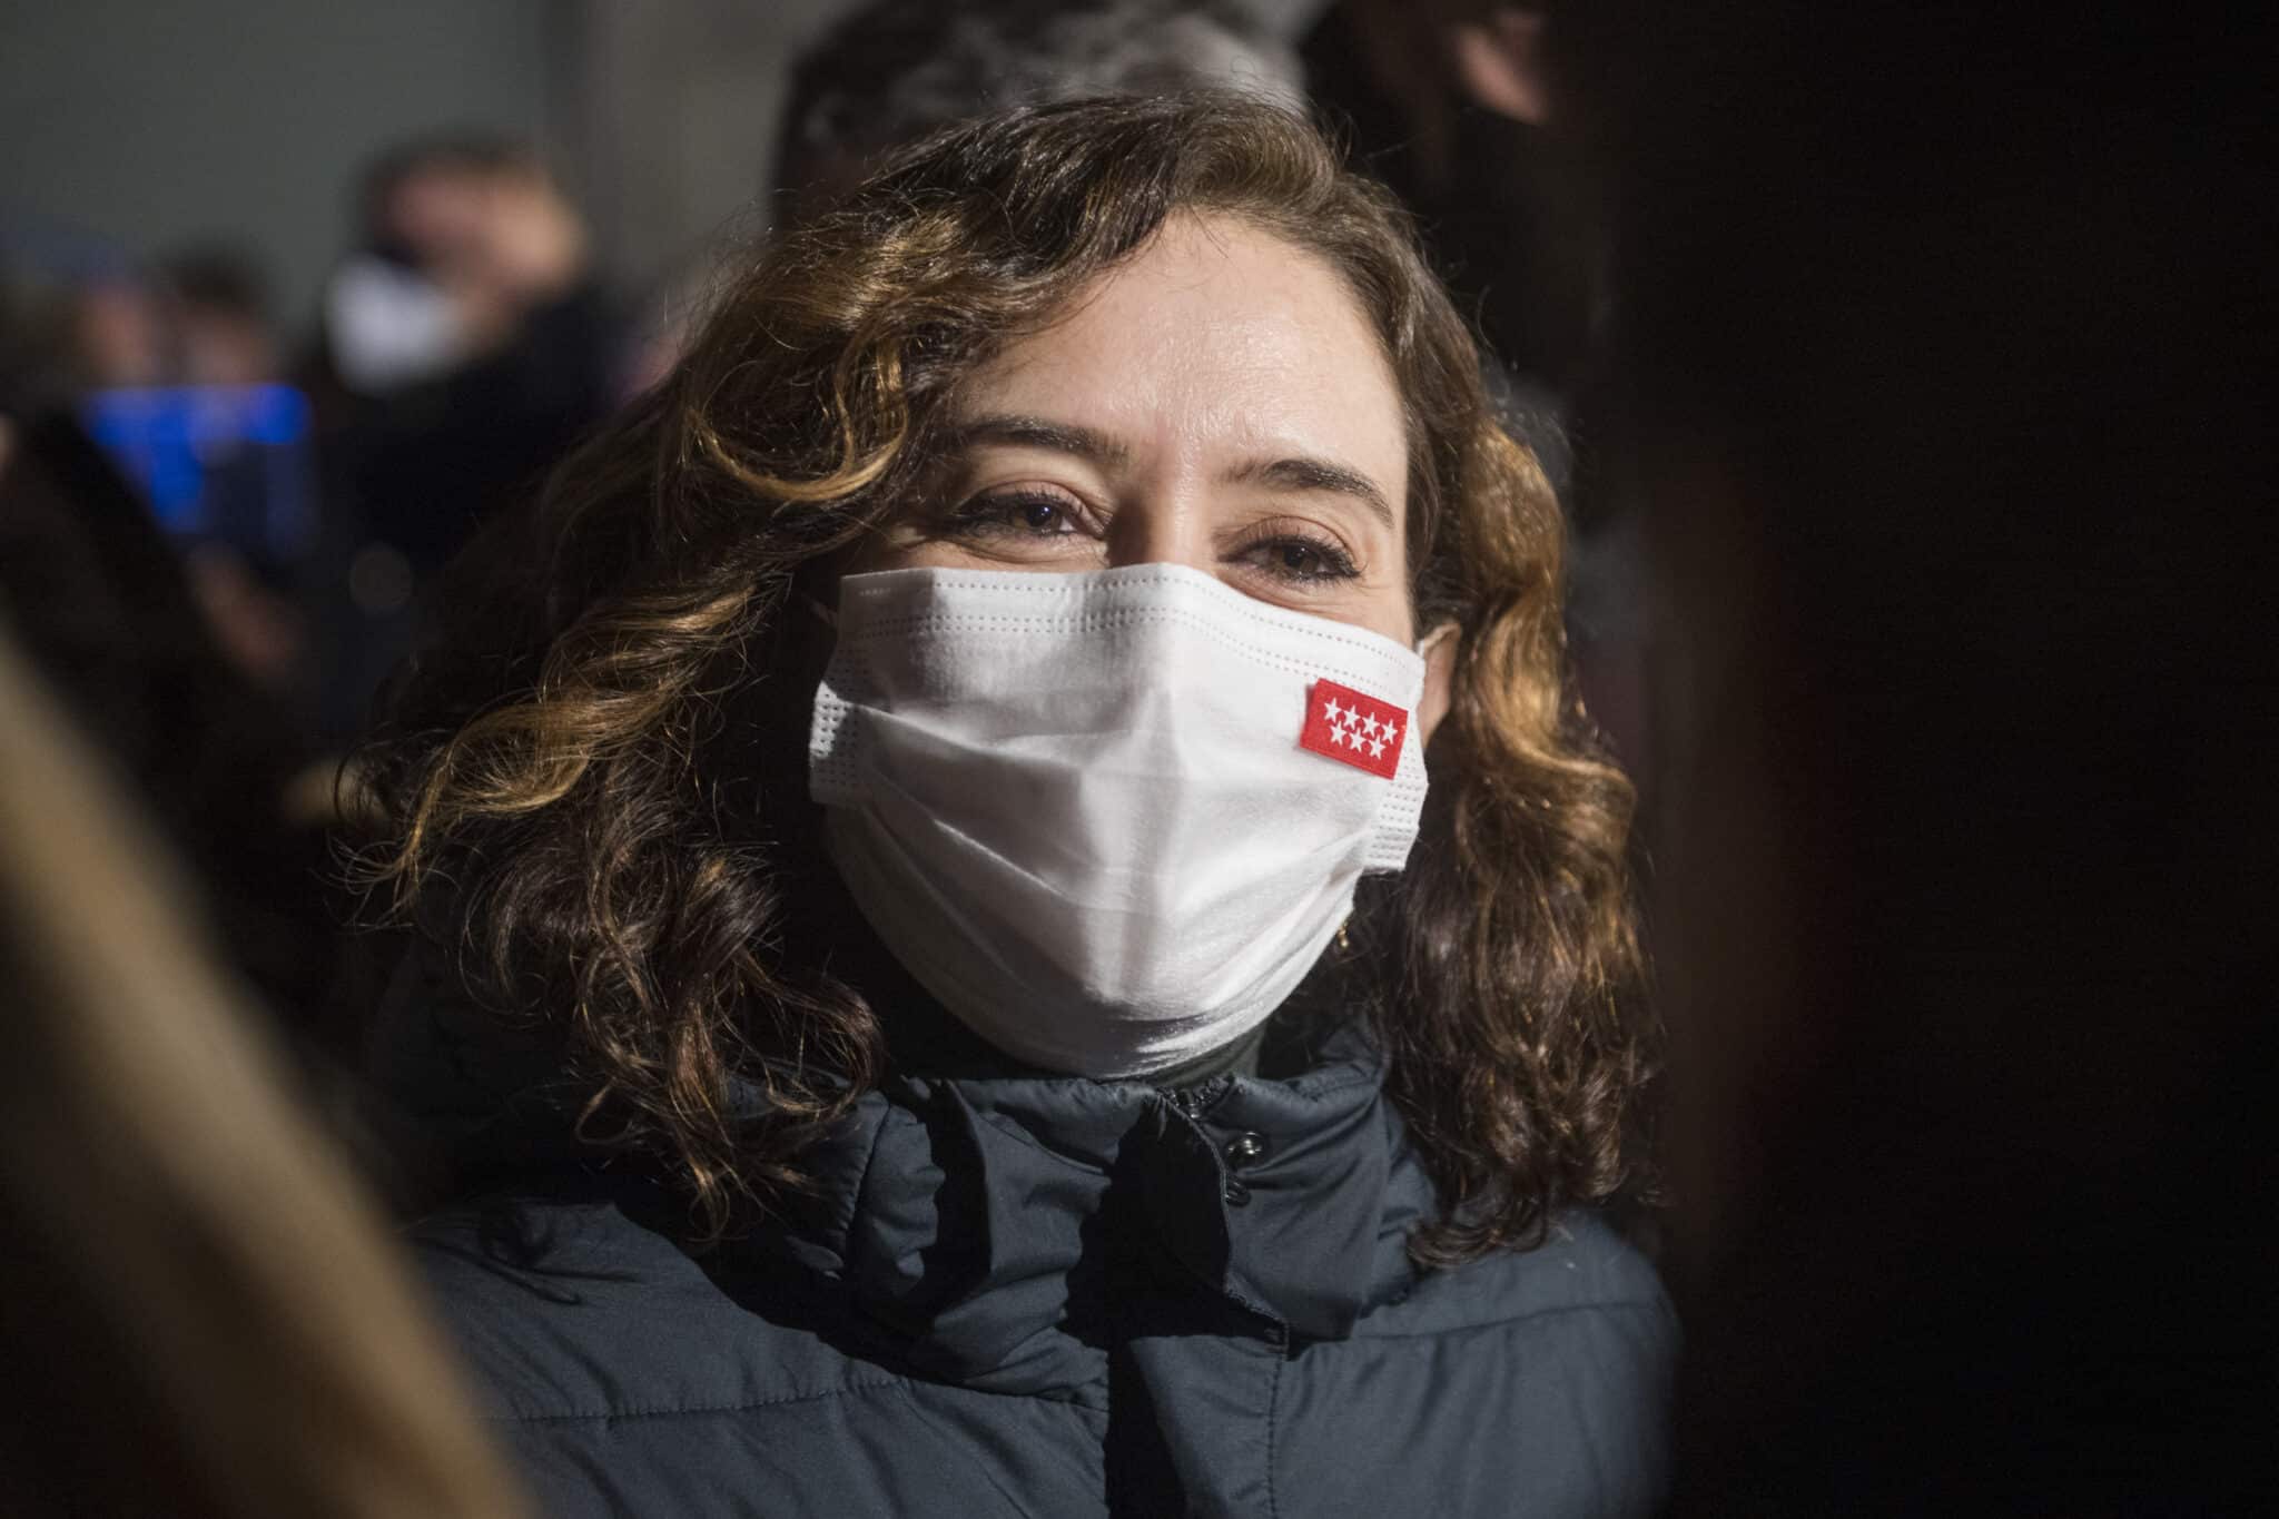
[{"label": "bare forehead of the curly-haired woman, above her eyebrows", "polygon": [[1042,332],[962,387],[962,408],[1042,414],[1167,455],[1304,449],[1399,506],[1406,435],[1383,344],[1324,260],[1244,221],[1178,216]]}]

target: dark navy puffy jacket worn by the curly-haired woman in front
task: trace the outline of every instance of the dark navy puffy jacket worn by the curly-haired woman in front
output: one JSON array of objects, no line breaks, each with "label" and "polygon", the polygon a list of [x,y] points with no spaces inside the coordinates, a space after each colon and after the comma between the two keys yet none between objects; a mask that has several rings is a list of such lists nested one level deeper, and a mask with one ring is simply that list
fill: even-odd
[{"label": "dark navy puffy jacket worn by the curly-haired woman in front", "polygon": [[688,1253],[556,1166],[415,1243],[538,1512],[1634,1514],[1675,1325],[1600,1218],[1420,1275],[1361,1034],[1297,1079],[900,1075],[798,1218]]}]

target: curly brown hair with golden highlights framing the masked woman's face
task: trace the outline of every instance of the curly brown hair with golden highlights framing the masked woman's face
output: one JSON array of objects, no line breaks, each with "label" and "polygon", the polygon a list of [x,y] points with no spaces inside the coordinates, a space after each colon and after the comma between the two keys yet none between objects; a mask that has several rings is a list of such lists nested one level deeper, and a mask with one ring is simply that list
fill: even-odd
[{"label": "curly brown hair with golden highlights framing the masked woman's face", "polygon": [[586,1116],[675,1161],[706,1230],[798,1187],[887,1061],[802,915],[823,635],[795,613],[925,499],[957,383],[1174,214],[1347,280],[1404,396],[1418,626],[1461,629],[1422,836],[1338,966],[1438,1182],[1411,1250],[1522,1246],[1639,1175],[1632,790],[1568,685],[1552,492],[1399,212],[1310,125],[1112,98],[937,134],[752,260],[670,380],[556,471],[536,535],[474,556],[371,749],[390,836],[365,879],[558,1038]]}]

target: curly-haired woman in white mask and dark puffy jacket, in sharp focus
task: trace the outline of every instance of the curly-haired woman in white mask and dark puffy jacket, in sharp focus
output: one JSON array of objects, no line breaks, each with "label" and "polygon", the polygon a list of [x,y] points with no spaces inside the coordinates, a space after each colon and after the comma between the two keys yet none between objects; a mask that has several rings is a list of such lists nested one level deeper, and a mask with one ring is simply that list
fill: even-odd
[{"label": "curly-haired woman in white mask and dark puffy jacket, in sharp focus", "polygon": [[1313,130],[914,148],[488,563],[376,770],[387,1061],[545,1512],[1650,1503],[1627,788]]}]

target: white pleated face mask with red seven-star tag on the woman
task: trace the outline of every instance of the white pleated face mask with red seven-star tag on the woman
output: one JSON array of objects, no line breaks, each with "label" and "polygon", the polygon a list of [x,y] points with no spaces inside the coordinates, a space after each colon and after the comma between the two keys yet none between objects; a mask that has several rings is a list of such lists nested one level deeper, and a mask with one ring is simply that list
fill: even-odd
[{"label": "white pleated face mask with red seven-star tag on the woman", "polygon": [[1149,1075],[1297,988],[1424,806],[1424,660],[1178,565],[839,588],[809,733],[839,875],[1035,1066]]}]

